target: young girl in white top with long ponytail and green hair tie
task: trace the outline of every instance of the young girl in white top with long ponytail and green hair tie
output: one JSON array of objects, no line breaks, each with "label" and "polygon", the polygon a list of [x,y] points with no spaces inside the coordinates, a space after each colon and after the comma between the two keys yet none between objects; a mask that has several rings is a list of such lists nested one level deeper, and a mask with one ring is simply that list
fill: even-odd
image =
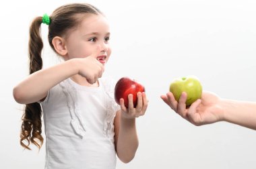
[{"label": "young girl in white top with long ponytail and green hair tie", "polygon": [[[40,25],[49,25],[51,48],[65,62],[42,69]],[[115,103],[115,82],[101,78],[111,54],[106,17],[89,4],[63,5],[49,17],[36,17],[30,26],[30,76],[13,89],[26,104],[20,144],[41,148],[41,116],[46,135],[45,168],[115,168],[135,156],[138,139],[135,117],[144,115],[148,101],[137,93],[137,107],[123,99]],[[42,109],[41,109],[42,107]],[[28,142],[28,144],[24,143]]]}]

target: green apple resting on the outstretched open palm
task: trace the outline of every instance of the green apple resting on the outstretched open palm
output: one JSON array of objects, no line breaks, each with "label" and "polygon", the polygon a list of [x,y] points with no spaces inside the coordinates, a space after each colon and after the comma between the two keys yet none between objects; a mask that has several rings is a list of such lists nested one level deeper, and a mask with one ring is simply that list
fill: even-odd
[{"label": "green apple resting on the outstretched open palm", "polygon": [[196,76],[186,76],[174,79],[170,83],[169,90],[177,101],[179,101],[182,92],[187,93],[187,106],[191,105],[197,99],[200,99],[202,94],[202,86]]}]

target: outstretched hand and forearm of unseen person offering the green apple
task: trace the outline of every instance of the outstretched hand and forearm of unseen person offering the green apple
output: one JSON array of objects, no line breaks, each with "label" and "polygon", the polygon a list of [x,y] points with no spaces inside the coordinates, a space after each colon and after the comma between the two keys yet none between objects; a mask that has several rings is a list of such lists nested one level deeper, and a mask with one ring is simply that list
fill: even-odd
[{"label": "outstretched hand and forearm of unseen person offering the green apple", "polygon": [[256,130],[255,102],[221,99],[209,92],[203,92],[201,99],[190,107],[186,107],[187,93],[182,93],[179,103],[170,92],[161,98],[171,109],[194,125],[228,121]]}]

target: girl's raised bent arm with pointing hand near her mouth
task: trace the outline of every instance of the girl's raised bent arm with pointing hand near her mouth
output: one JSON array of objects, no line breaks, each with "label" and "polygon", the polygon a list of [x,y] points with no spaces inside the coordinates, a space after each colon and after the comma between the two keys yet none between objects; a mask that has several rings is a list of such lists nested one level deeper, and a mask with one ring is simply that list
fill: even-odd
[{"label": "girl's raised bent arm with pointing hand near her mouth", "polygon": [[70,76],[80,74],[93,84],[102,76],[103,70],[95,57],[73,58],[30,74],[14,87],[13,97],[18,103],[34,103],[44,99],[52,87]]}]

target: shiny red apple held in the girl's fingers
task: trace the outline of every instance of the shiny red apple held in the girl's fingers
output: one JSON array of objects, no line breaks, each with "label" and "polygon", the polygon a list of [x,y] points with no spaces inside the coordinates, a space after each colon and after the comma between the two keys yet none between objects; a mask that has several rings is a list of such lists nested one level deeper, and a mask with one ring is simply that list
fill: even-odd
[{"label": "shiny red apple held in the girl's fingers", "polygon": [[125,107],[128,107],[128,95],[133,94],[133,107],[136,107],[138,92],[145,92],[142,84],[128,77],[120,78],[115,86],[115,101],[120,105],[120,99],[123,98]]}]

